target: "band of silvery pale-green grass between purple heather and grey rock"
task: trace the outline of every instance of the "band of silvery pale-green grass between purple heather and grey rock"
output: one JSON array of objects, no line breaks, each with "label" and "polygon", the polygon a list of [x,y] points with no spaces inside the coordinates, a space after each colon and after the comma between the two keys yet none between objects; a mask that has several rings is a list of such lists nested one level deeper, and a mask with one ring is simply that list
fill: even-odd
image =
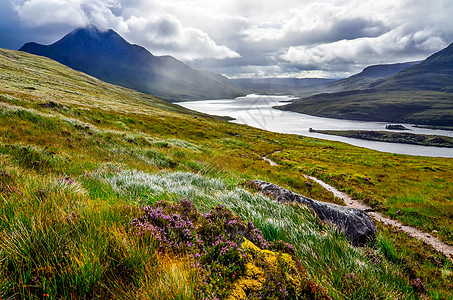
[{"label": "band of silvery pale-green grass between purple heather and grey rock", "polygon": [[[293,244],[310,276],[338,299],[417,298],[407,280],[377,245],[355,248],[336,228],[322,224],[309,209],[279,204],[221,178],[200,174],[140,171],[98,172],[120,197],[138,197],[149,205],[156,200],[190,199],[201,211],[223,204],[252,221],[264,236]],[[370,280],[372,278],[373,280]]]}]

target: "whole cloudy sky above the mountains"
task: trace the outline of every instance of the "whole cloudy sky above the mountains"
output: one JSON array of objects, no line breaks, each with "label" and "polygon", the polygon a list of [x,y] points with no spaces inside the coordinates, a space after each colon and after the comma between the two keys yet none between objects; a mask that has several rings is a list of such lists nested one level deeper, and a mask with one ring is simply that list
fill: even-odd
[{"label": "whole cloudy sky above the mountains", "polygon": [[452,0],[0,0],[0,47],[113,29],[229,78],[343,78],[453,42]]}]

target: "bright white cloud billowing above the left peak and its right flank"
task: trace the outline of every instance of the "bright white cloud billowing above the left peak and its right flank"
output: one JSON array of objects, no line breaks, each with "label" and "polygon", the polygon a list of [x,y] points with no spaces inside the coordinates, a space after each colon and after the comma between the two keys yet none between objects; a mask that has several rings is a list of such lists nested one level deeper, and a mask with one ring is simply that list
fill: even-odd
[{"label": "bright white cloud billowing above the left peak and its right flank", "polygon": [[[113,28],[126,39],[146,46],[152,52],[175,55],[186,61],[240,56],[227,46],[218,45],[202,30],[183,26],[174,16],[151,13],[137,17],[131,14],[133,9],[123,9],[125,4],[131,5],[134,1],[26,0],[14,7],[22,23],[29,27],[64,24]],[[141,1],[135,1],[135,4],[144,5]],[[123,13],[130,16],[127,18]]]}]

